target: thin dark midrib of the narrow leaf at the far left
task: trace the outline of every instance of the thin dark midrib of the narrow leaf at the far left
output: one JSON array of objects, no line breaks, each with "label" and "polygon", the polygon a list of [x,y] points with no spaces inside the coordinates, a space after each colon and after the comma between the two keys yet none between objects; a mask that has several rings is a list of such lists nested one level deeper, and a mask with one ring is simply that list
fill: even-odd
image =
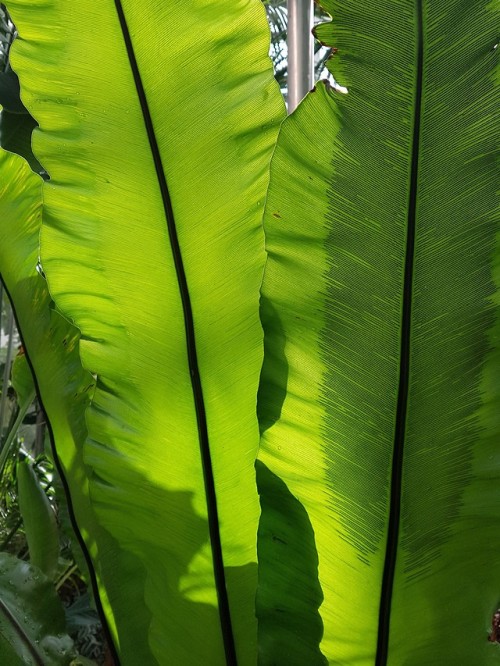
[{"label": "thin dark midrib of the narrow leaf at the far left", "polygon": [[[66,505],[68,507],[68,516],[69,516],[69,519],[70,519],[70,522],[71,522],[71,526],[73,528],[73,532],[76,536],[76,540],[78,541],[78,545],[80,546],[80,549],[83,553],[83,557],[85,558],[85,562],[87,564],[87,569],[88,569],[89,576],[90,576],[90,584],[92,586],[92,593],[93,593],[93,596],[94,596],[94,601],[95,601],[95,605],[96,605],[96,608],[97,608],[97,612],[99,614],[99,619],[101,621],[102,630],[103,630],[103,633],[105,635],[106,641],[108,643],[109,651],[111,652],[111,656],[113,657],[113,662],[116,666],[120,666],[120,658],[118,656],[118,652],[116,650],[116,646],[115,646],[115,643],[114,643],[114,638],[113,638],[113,635],[111,634],[111,630],[110,630],[109,625],[108,625],[108,620],[106,618],[106,614],[104,612],[104,608],[103,608],[103,605],[102,605],[101,596],[100,596],[100,592],[99,592],[99,585],[98,585],[98,582],[97,582],[97,576],[96,576],[96,572],[95,572],[95,569],[94,569],[94,563],[92,562],[92,558],[90,557],[90,553],[88,551],[87,544],[85,543],[85,540],[82,536],[82,533],[80,532],[80,527],[79,527],[78,522],[76,520],[75,512],[74,512],[74,509],[73,509],[73,501],[71,499],[71,493],[70,493],[70,490],[69,490],[69,485],[68,485],[68,482],[66,480],[64,468],[61,464],[61,460],[59,459],[59,454],[57,452],[56,445],[55,445],[54,431],[52,429],[52,424],[50,422],[49,415],[48,415],[47,410],[45,409],[45,405],[43,403],[43,398],[42,398],[42,393],[40,391],[40,385],[39,385],[39,382],[38,382],[38,377],[36,375],[33,363],[31,362],[30,347],[29,347],[29,345],[26,344],[26,341],[24,339],[22,328],[19,325],[19,318],[17,316],[14,301],[12,300],[12,296],[10,295],[10,292],[9,292],[9,290],[7,288],[7,285],[6,285],[5,281],[3,280],[1,274],[0,274],[0,282],[2,283],[2,285],[5,289],[5,293],[7,294],[8,298],[9,298],[10,305],[11,305],[12,311],[14,313],[14,319],[16,321],[17,331],[19,333],[19,337],[21,339],[23,348],[26,351],[26,361],[29,365],[29,368],[30,368],[30,371],[31,371],[31,376],[33,377],[33,382],[35,384],[35,391],[36,391],[38,401],[40,403],[40,407],[42,408],[42,410],[44,411],[44,413],[47,417],[46,424],[47,424],[47,430],[49,431],[49,439],[50,439],[50,448],[51,448],[51,451],[52,451],[52,458],[54,460],[54,465],[57,469],[57,473],[59,474],[59,478],[61,479],[61,484],[62,484],[62,487],[63,487],[63,490],[64,490],[64,495],[66,497]],[[41,663],[41,666],[44,666],[43,661],[40,662],[40,663]]]}]

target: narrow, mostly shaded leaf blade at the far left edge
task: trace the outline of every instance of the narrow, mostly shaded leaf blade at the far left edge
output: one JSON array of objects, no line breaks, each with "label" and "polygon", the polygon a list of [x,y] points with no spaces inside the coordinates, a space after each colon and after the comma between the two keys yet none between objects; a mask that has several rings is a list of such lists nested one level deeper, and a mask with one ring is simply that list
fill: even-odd
[{"label": "narrow, mostly shaded leaf blade at the far left edge", "polygon": [[[113,538],[100,528],[89,503],[82,456],[87,436],[84,412],[94,380],[81,366],[78,330],[54,310],[46,281],[37,271],[41,179],[20,157],[0,151],[0,183],[0,274],[14,303],[56,442],[55,462],[59,462],[59,472],[69,485],[72,508],[80,534],[93,556],[96,576],[105,584],[106,591],[100,585],[99,594],[111,630],[114,616],[119,618],[120,655],[152,663],[154,658],[144,638],[150,619],[144,606],[144,574],[133,557],[120,551]],[[19,388],[16,363],[14,380]],[[99,558],[97,541],[105,552],[114,553],[112,562]],[[125,572],[123,576],[117,575],[116,562]],[[129,604],[136,609],[136,615],[128,611]]]}]

